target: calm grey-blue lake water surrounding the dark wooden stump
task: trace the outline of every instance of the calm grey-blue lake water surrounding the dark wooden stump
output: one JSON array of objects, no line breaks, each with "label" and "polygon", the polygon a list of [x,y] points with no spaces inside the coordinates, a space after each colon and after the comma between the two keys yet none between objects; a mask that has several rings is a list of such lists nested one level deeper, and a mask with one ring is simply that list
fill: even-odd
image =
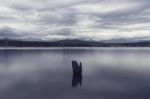
[{"label": "calm grey-blue lake water surrounding the dark wooden stump", "polygon": [[150,48],[1,49],[0,99],[150,99]]}]

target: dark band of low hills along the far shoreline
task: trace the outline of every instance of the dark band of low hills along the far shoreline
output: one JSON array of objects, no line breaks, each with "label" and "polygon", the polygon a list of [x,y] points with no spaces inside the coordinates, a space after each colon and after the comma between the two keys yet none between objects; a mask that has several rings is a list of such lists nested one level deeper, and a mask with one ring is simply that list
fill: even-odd
[{"label": "dark band of low hills along the far shoreline", "polygon": [[104,43],[82,40],[20,41],[1,39],[0,47],[150,47],[150,41],[132,43]]}]

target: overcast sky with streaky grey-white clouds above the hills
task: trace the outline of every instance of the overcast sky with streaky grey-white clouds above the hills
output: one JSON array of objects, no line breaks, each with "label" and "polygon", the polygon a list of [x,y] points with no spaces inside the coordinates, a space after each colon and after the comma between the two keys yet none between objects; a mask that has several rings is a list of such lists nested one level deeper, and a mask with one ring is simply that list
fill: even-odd
[{"label": "overcast sky with streaky grey-white clouds above the hills", "polygon": [[0,0],[0,38],[150,39],[150,0]]}]

